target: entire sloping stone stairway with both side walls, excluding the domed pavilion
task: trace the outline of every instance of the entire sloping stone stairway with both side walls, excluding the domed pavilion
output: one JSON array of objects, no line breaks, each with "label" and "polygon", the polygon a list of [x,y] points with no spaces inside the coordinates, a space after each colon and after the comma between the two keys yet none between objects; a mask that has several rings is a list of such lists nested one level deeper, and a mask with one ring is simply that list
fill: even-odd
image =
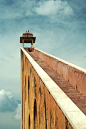
[{"label": "entire sloping stone stairway with both side walls, excluding the domed pavilion", "polygon": [[86,70],[21,48],[21,129],[86,129]]}]

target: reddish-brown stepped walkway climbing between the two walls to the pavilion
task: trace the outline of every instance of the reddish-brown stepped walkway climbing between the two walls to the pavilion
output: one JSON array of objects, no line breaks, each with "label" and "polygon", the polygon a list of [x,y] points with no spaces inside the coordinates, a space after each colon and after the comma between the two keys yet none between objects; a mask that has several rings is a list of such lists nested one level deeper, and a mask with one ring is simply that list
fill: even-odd
[{"label": "reddish-brown stepped walkway climbing between the two walls to the pavilion", "polygon": [[[28,50],[26,50],[28,52]],[[52,68],[39,59],[34,52],[28,52],[29,55],[39,64],[39,66],[52,78],[52,80],[66,93],[66,95],[77,105],[77,107],[86,115],[86,96],[63,78],[61,78]]]}]

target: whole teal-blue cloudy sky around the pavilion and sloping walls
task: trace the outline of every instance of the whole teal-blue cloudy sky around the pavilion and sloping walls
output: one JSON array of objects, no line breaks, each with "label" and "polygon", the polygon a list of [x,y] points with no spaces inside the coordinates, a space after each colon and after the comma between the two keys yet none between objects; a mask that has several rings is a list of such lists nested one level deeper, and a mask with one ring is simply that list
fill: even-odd
[{"label": "whole teal-blue cloudy sky around the pavilion and sloping walls", "polygon": [[28,29],[35,48],[86,69],[86,0],[0,0],[0,129],[20,129],[20,36]]}]

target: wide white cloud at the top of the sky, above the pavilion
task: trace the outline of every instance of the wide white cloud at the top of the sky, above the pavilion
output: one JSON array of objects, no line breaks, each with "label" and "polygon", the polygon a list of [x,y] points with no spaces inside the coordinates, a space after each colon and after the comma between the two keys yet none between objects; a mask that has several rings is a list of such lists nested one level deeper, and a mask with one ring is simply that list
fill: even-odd
[{"label": "wide white cloud at the top of the sky, above the pavilion", "polygon": [[73,14],[72,8],[68,5],[67,1],[50,0],[39,2],[38,7],[34,9],[39,15],[71,15]]}]

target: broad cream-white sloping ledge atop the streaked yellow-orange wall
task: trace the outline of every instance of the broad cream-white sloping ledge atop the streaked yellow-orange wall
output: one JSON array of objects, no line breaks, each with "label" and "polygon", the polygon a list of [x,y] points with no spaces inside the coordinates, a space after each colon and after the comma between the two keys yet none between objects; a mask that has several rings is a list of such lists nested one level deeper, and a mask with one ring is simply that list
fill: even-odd
[{"label": "broad cream-white sloping ledge atop the streaked yellow-orange wall", "polygon": [[[41,80],[55,99],[58,106],[68,119],[74,129],[86,129],[86,116],[73,103],[73,101],[59,88],[59,86],[49,77],[49,75],[34,61],[34,59],[23,49],[33,68],[40,76]],[[50,55],[51,56],[51,55]]]}]

